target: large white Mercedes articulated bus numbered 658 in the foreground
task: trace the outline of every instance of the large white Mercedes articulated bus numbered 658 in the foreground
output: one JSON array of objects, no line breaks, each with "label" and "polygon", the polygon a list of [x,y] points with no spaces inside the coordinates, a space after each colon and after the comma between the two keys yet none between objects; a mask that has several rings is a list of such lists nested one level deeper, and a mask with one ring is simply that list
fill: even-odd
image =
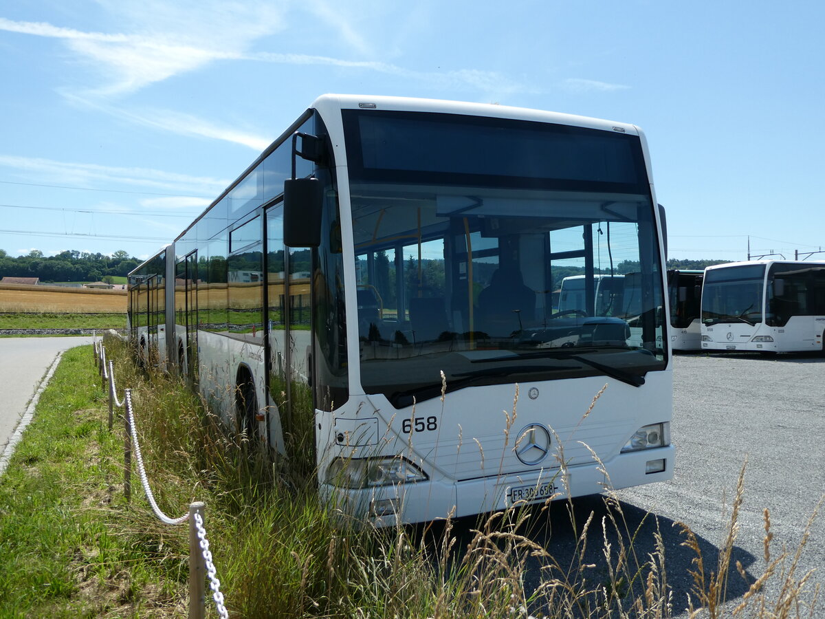
[{"label": "large white Mercedes articulated bus numbered 658 in the foreground", "polygon": [[634,125],[326,95],[135,269],[130,324],[376,524],[594,494],[673,475],[663,225]]}]

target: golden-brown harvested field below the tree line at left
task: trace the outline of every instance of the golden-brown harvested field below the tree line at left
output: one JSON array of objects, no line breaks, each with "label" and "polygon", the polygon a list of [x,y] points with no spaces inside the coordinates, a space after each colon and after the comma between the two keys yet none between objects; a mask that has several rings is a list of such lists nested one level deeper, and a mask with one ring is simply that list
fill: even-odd
[{"label": "golden-brown harvested field below the tree line at left", "polygon": [[59,286],[0,286],[0,312],[125,314],[125,291]]}]

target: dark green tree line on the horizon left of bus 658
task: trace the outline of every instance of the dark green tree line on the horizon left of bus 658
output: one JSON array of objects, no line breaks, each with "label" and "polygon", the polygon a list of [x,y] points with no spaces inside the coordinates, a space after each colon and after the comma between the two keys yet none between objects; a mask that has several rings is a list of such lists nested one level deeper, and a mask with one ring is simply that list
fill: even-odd
[{"label": "dark green tree line on the horizon left of bus 658", "polygon": [[105,281],[110,276],[125,276],[140,264],[122,249],[107,256],[103,253],[67,250],[44,256],[32,249],[25,256],[13,258],[0,249],[0,278],[40,277],[40,281]]}]

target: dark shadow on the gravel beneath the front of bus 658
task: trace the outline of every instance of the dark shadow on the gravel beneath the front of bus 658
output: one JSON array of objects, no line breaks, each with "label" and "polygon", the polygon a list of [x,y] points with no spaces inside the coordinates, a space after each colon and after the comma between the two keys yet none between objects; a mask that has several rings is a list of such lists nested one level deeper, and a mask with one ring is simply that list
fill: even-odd
[{"label": "dark shadow on the gravel beneath the front of bus 658", "polygon": [[[522,582],[528,599],[549,579],[559,579],[571,586],[581,587],[580,566],[589,565],[590,567],[582,572],[587,578],[587,588],[603,586],[610,590],[617,585],[615,589],[620,593],[625,610],[628,609],[635,598],[643,597],[645,579],[650,571],[649,562],[658,551],[658,533],[662,537],[667,585],[672,595],[674,614],[686,610],[689,597],[695,606],[698,605],[695,581],[690,573],[696,569],[697,553],[684,543],[688,541],[688,536],[678,522],[648,513],[631,503],[610,502],[601,494],[573,499],[572,502],[557,500],[544,509],[541,505],[532,505],[529,509],[530,516],[526,518],[518,533],[541,546],[550,558],[530,556],[526,560]],[[479,522],[482,522],[481,527]],[[464,554],[473,542],[476,532],[479,529],[483,530],[483,522],[468,517],[460,518],[453,523],[451,534],[456,538],[453,546],[454,555],[451,557],[453,565],[464,559]],[[587,534],[582,539],[586,525]],[[502,529],[503,527],[500,527],[499,530]],[[441,548],[443,532],[443,523],[427,528],[425,543],[433,555],[437,555]],[[721,549],[716,543],[695,533],[694,535],[707,583],[711,578],[711,572],[719,570]],[[720,536],[724,536],[724,532],[721,532]],[[722,542],[720,539],[719,543]],[[629,569],[625,574],[636,574],[633,582],[629,582],[625,574],[622,574],[619,582],[614,583],[615,578],[611,577],[606,559],[607,546],[610,546],[610,564],[614,568],[621,546],[628,551]],[[747,550],[733,546],[725,584],[726,600],[741,598],[756,581],[747,571],[754,561],[755,557]],[[737,563],[742,565],[747,580],[738,574]],[[543,614],[541,607],[531,608],[530,612]]]}]

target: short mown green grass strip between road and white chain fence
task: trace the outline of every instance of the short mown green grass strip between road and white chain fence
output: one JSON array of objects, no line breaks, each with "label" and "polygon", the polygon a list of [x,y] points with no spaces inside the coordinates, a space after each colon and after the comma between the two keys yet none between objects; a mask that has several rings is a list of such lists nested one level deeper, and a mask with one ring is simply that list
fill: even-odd
[{"label": "short mown green grass strip between road and white chain fence", "polygon": [[122,442],[93,376],[89,347],[64,354],[0,480],[0,617],[115,617],[158,587],[148,598],[180,598],[123,536]]}]

